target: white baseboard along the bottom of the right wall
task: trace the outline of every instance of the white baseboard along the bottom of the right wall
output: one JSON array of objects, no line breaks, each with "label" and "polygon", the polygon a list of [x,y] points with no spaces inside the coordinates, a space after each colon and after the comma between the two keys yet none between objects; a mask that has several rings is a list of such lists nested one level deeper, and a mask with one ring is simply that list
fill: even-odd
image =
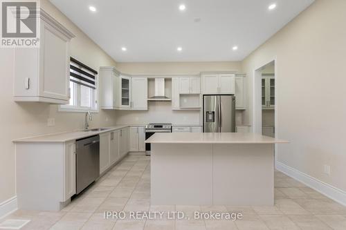
[{"label": "white baseboard along the bottom of the right wall", "polygon": [[346,206],[346,192],[345,191],[338,189],[334,186],[331,186],[330,184],[327,184],[325,182],[322,182],[316,178],[313,178],[310,175],[302,173],[301,171],[298,171],[297,169],[293,169],[290,166],[287,166],[286,164],[275,162],[275,167],[278,171],[281,171],[282,173],[289,175],[291,178],[294,178],[295,180],[302,182],[303,184],[311,187],[311,189],[315,189],[316,191],[322,193],[323,195],[327,196],[331,200],[334,200]]}]

